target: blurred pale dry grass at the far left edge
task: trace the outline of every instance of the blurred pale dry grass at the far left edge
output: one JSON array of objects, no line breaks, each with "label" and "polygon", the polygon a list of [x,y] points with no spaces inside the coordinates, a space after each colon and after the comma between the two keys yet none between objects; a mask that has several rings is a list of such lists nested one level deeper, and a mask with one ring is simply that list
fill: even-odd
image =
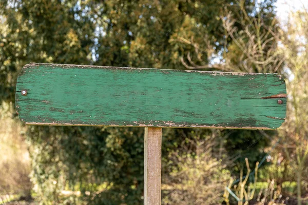
[{"label": "blurred pale dry grass at the far left edge", "polygon": [[24,138],[25,128],[14,117],[12,104],[0,108],[0,196],[30,195],[30,158]]}]

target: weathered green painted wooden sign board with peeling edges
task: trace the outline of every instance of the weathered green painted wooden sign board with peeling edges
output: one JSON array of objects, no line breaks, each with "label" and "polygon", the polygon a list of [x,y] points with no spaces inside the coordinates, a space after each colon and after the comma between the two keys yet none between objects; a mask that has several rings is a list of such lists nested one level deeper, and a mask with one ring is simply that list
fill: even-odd
[{"label": "weathered green painted wooden sign board with peeling edges", "polygon": [[276,129],[286,88],[272,73],[32,63],[16,111],[29,125]]}]

